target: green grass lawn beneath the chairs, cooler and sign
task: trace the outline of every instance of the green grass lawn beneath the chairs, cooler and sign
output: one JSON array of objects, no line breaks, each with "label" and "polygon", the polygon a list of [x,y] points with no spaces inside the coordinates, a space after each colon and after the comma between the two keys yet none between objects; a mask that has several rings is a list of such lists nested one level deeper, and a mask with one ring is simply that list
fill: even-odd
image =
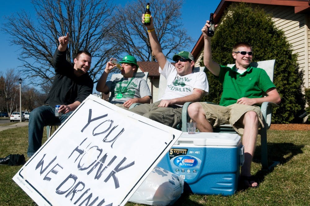
[{"label": "green grass lawn beneath the chairs, cooler and sign", "polygon": [[[44,132],[43,137],[46,137]],[[28,126],[0,132],[0,158],[9,154],[27,156],[27,146]],[[183,194],[174,205],[310,205],[310,131],[269,130],[268,158],[280,164],[271,171],[264,171],[259,161],[258,137],[251,170],[259,179],[259,188],[240,190],[232,196]],[[0,166],[1,206],[36,205],[12,180],[20,168]],[[140,204],[126,204],[134,205]]]}]

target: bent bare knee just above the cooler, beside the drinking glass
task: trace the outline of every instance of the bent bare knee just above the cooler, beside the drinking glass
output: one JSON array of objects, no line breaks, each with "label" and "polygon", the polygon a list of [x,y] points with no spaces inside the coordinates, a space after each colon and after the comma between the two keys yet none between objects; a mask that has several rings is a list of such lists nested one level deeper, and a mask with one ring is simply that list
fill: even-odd
[{"label": "bent bare knee just above the cooler, beside the drinking glass", "polygon": [[194,102],[188,106],[188,115],[197,123],[200,132],[213,132],[211,124],[206,119],[205,111],[199,102]]}]

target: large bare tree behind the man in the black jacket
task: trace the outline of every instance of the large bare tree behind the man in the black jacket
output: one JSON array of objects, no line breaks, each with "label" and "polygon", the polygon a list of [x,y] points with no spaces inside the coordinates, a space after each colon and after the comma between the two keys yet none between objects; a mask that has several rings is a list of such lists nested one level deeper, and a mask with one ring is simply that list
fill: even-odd
[{"label": "large bare tree behind the man in the black jacket", "polygon": [[52,56],[58,46],[58,37],[70,34],[67,59],[73,61],[79,50],[92,56],[90,75],[96,80],[110,56],[118,48],[111,44],[111,21],[114,7],[102,0],[33,0],[37,21],[26,11],[6,17],[3,30],[10,34],[11,43],[21,47],[22,72],[35,86],[54,78]]}]

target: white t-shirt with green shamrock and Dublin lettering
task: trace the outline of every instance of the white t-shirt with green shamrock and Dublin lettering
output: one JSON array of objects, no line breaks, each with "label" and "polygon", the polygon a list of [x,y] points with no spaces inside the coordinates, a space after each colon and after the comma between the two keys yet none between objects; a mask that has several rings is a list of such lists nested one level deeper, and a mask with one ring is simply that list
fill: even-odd
[{"label": "white t-shirt with green shamrock and Dublin lettering", "polygon": [[194,88],[209,92],[208,79],[204,72],[194,72],[180,76],[175,66],[166,61],[163,70],[159,67],[159,73],[167,79],[166,90],[159,100],[169,100],[191,95],[194,92]]}]

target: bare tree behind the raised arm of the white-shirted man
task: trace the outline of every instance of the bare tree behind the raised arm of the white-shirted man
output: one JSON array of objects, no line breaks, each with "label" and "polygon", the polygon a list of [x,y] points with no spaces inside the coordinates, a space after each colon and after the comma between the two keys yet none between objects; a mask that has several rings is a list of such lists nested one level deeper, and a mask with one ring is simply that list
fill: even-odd
[{"label": "bare tree behind the raised arm of the white-shirted man", "polygon": [[[193,39],[183,28],[180,8],[182,1],[161,0],[152,1],[151,15],[154,17],[154,26],[164,54],[170,59],[171,54],[181,50],[189,50]],[[142,61],[154,61],[146,27],[142,25],[141,16],[145,12],[144,0],[127,3],[124,8],[118,7],[114,16],[115,27],[114,44],[121,45],[122,51],[135,56]],[[193,11],[194,12],[194,11]],[[184,49],[185,48],[185,49]]]}]

